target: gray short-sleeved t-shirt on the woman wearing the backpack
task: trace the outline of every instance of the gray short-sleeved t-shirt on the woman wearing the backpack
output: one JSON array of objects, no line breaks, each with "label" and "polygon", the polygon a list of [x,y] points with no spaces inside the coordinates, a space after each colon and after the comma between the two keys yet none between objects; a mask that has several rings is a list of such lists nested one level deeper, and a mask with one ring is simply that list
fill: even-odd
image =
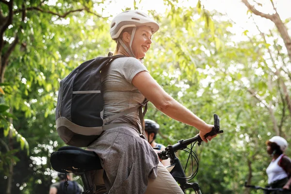
[{"label": "gray short-sleeved t-shirt on the woman wearing the backpack", "polygon": [[[147,71],[145,65],[133,57],[115,59],[101,72],[104,98],[104,118],[140,105],[145,97],[131,84],[133,77]],[[113,123],[130,123],[141,129],[138,110],[121,116]]]}]

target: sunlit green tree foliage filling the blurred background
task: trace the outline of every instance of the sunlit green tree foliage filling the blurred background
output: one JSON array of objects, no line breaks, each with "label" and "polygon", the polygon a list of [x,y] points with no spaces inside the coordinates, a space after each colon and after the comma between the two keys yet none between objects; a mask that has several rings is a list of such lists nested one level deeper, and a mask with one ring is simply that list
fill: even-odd
[{"label": "sunlit green tree foliage filling the blurred background", "polygon": [[[24,21],[20,11],[23,2],[27,8]],[[83,61],[113,51],[111,19],[102,13],[109,2],[14,1],[13,24],[5,31],[7,43],[2,53],[15,34],[19,43],[9,58],[5,83],[0,84],[5,91],[5,95],[0,94],[0,174],[2,178],[12,176],[8,166],[14,164],[13,194],[48,192],[56,178],[49,156],[64,146],[55,131],[59,81]],[[140,8],[141,2],[134,1],[133,6]],[[232,22],[206,10],[203,1],[198,0],[194,7],[181,6],[181,2],[164,0],[163,14],[149,11],[159,22],[160,30],[153,36],[144,64],[167,93],[207,123],[212,124],[213,113],[221,117],[221,129],[225,132],[208,144],[194,146],[200,162],[193,181],[198,181],[202,193],[242,194],[244,180],[252,170],[251,183],[264,186],[265,169],[270,162],[264,150],[265,141],[275,135],[268,105],[281,135],[291,140],[290,113],[281,88],[284,81],[291,91],[290,61],[281,52],[278,33],[274,30],[266,35],[274,44],[267,44],[261,35],[249,36],[247,30],[242,33],[245,41],[234,41],[235,34],[229,30]],[[7,16],[8,6],[2,2],[0,5],[1,13]],[[42,11],[32,9],[37,6]],[[82,8],[86,9],[62,17]],[[290,22],[290,18],[285,22]],[[275,67],[279,67],[281,80],[275,75]],[[164,145],[198,133],[152,104],[146,117],[160,124],[162,136],[158,135],[157,142]],[[5,145],[12,149],[7,150]],[[178,152],[178,156],[185,165],[187,154]],[[7,180],[2,180],[0,191],[5,191]],[[19,187],[15,186],[17,183]]]}]

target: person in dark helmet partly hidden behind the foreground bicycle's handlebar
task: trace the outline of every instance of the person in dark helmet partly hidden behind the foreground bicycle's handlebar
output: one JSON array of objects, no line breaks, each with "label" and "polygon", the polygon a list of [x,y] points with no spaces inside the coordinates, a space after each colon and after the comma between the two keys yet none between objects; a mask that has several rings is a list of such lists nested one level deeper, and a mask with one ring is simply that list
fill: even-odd
[{"label": "person in dark helmet partly hidden behind the foreground bicycle's handlebar", "polygon": [[[152,147],[154,147],[154,149],[163,151],[165,150],[166,147],[162,144],[156,143],[156,136],[159,129],[160,129],[160,125],[158,123],[150,119],[145,119],[145,131],[146,131],[146,137],[147,137],[148,143]],[[164,166],[171,165],[170,159],[161,160],[161,162],[162,162],[162,165]]]}]

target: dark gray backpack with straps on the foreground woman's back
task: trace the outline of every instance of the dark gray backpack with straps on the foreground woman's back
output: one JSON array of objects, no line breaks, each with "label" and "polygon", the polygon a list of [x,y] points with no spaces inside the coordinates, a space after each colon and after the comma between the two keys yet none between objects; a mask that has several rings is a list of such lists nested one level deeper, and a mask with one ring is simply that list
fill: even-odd
[{"label": "dark gray backpack with straps on the foreground woman's back", "polygon": [[[103,119],[103,94],[101,89],[101,70],[113,60],[124,55],[97,57],[75,68],[60,81],[56,107],[56,126],[59,136],[69,146],[87,147],[95,141],[103,130],[126,124],[108,124],[110,121],[139,109],[144,129],[146,103]],[[145,107],[144,113],[142,112]],[[128,124],[130,126],[130,124]],[[140,131],[142,134],[142,131]]]}]

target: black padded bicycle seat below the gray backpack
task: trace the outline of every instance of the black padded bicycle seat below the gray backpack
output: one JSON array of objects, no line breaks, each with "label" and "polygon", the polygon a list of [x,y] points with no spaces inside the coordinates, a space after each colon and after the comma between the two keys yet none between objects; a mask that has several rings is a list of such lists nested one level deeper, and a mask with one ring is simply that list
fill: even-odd
[{"label": "black padded bicycle seat below the gray backpack", "polygon": [[102,169],[97,154],[79,147],[64,146],[50,155],[51,167],[58,172],[84,172]]}]

